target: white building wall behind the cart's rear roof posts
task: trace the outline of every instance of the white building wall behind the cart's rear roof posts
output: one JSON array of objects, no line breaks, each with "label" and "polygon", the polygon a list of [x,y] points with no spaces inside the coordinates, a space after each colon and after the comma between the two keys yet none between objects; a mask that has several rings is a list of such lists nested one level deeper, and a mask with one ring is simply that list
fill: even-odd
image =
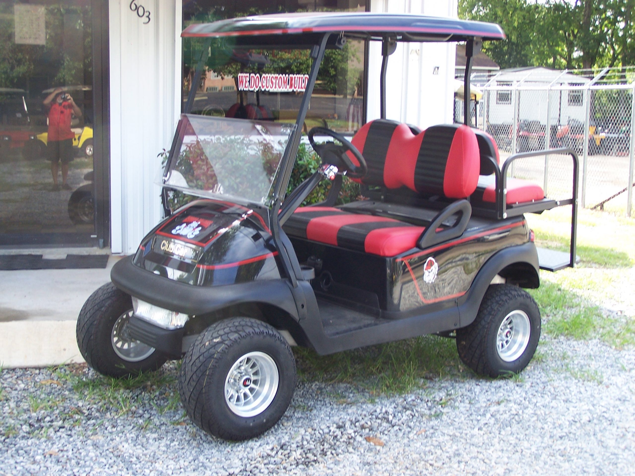
[{"label": "white building wall behind the cart's rear roof posts", "polygon": [[[457,0],[371,0],[371,11],[457,17]],[[381,43],[370,44],[368,117],[380,117]],[[453,119],[455,43],[398,43],[388,58],[386,118],[425,129]],[[438,74],[434,74],[439,67]]]}]

